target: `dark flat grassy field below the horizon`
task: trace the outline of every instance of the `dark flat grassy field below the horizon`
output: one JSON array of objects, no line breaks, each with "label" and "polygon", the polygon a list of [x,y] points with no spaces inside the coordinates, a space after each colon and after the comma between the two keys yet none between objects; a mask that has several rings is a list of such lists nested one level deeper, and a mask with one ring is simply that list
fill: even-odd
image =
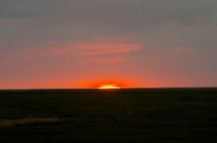
[{"label": "dark flat grassy field below the horizon", "polygon": [[217,142],[217,89],[0,91],[10,142]]}]

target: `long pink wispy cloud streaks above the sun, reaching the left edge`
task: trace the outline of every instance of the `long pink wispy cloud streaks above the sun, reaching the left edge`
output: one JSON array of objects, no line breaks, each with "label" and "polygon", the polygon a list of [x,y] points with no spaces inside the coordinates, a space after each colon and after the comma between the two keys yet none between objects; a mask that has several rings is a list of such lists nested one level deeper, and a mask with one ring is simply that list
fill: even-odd
[{"label": "long pink wispy cloud streaks above the sun, reaching the left edge", "polygon": [[[14,47],[25,47],[21,51],[13,52],[14,50],[2,51],[0,53],[0,64],[15,63],[26,60],[36,60],[53,56],[79,56],[80,58],[87,58],[91,55],[108,55],[114,56],[114,54],[124,54],[130,52],[137,52],[141,50],[140,44],[112,44],[112,43],[101,43],[101,44],[73,44],[73,43],[48,43],[43,46],[35,44],[17,44]],[[26,48],[28,47],[28,48]],[[40,47],[40,48],[39,48]],[[87,57],[86,57],[87,56]],[[117,57],[94,57],[84,61],[85,63],[120,63],[126,62],[125,56]]]}]

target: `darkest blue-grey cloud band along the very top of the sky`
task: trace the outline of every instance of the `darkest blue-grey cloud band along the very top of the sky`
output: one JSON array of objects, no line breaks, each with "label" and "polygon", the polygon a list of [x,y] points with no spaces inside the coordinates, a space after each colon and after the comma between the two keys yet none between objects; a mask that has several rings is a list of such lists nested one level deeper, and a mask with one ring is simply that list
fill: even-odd
[{"label": "darkest blue-grey cloud band along the very top of the sky", "polygon": [[168,22],[202,23],[215,16],[216,6],[216,0],[1,0],[0,17],[82,20],[135,29]]}]

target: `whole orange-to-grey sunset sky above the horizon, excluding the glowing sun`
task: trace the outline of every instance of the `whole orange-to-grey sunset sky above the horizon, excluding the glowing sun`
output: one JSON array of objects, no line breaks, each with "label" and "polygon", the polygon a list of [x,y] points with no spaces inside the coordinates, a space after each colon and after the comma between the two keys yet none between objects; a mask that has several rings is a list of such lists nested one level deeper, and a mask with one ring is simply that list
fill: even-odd
[{"label": "whole orange-to-grey sunset sky above the horizon, excluding the glowing sun", "polygon": [[217,87],[217,0],[0,0],[0,89]]}]

